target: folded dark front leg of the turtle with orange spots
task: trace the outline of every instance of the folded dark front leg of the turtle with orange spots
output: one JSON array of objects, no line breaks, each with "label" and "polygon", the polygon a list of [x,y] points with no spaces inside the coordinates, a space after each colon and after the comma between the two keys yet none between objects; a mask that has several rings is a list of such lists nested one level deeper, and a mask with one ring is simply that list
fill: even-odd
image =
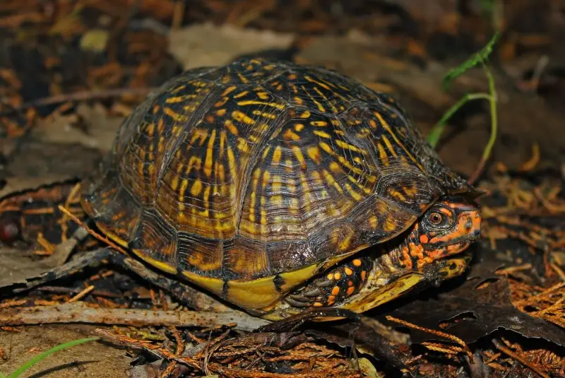
[{"label": "folded dark front leg of the turtle with orange spots", "polygon": [[288,295],[285,301],[292,307],[329,307],[347,302],[367,283],[373,267],[371,256],[360,256],[343,261],[306,286]]}]

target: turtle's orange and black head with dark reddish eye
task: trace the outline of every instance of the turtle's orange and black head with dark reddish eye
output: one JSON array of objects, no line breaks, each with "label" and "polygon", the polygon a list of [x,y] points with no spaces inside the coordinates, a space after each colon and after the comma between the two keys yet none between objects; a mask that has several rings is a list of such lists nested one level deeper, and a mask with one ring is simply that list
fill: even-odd
[{"label": "turtle's orange and black head with dark reddish eye", "polygon": [[465,196],[444,196],[432,205],[416,225],[424,259],[433,261],[457,254],[481,235],[479,205]]}]

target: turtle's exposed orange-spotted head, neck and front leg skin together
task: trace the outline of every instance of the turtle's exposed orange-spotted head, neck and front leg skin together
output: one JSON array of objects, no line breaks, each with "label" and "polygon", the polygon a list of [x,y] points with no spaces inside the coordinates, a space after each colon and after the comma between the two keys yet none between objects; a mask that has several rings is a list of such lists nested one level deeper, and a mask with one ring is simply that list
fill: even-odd
[{"label": "turtle's exposed orange-spotted head, neck and front leg skin together", "polygon": [[[434,261],[458,254],[480,237],[480,208],[460,196],[440,199],[412,228],[395,240],[345,260],[289,295],[290,307],[342,307],[363,304],[376,288]],[[364,309],[367,309],[365,306]],[[351,307],[355,311],[356,305]]]}]

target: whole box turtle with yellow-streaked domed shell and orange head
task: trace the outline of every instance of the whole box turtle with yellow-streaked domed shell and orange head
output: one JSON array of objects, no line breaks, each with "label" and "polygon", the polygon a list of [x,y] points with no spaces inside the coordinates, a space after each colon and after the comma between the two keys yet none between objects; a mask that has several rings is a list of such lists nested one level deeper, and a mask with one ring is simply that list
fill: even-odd
[{"label": "whole box turtle with yellow-streaked domed shell and orange head", "polygon": [[462,273],[467,259],[443,258],[480,236],[476,196],[390,95],[245,58],[150,94],[82,203],[148,264],[281,319],[363,312]]}]

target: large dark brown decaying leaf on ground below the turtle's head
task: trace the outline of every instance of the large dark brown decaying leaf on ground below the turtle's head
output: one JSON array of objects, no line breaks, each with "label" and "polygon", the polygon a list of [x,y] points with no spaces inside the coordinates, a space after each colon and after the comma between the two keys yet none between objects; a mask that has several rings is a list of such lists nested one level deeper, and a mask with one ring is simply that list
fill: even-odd
[{"label": "large dark brown decaying leaf on ground below the turtle's head", "polygon": [[[495,252],[482,248],[478,254],[494,256]],[[482,259],[480,264],[472,266],[468,279],[457,288],[433,298],[413,300],[396,309],[393,316],[451,333],[466,343],[473,343],[497,329],[506,329],[565,345],[564,329],[516,309],[511,302],[508,278],[496,276],[494,270],[490,274],[485,271],[486,266],[501,265],[492,259],[490,264]],[[417,343],[434,338],[419,331],[412,332],[411,337]]]}]

